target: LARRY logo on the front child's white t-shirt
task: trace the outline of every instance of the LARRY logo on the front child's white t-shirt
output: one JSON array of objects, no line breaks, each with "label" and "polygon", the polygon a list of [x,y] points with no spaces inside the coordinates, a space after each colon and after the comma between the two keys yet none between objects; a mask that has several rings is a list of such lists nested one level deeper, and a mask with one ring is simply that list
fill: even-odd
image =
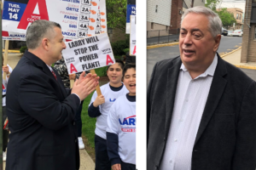
[{"label": "LARRY logo on the front child's white t-shirt", "polygon": [[126,133],[136,132],[136,115],[125,117],[123,121],[119,119],[121,130]]}]

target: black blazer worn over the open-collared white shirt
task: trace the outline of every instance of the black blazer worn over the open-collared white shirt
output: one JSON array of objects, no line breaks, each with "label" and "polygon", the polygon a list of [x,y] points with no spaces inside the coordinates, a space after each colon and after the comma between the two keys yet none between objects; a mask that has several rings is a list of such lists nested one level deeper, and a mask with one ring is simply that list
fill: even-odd
[{"label": "black blazer worn over the open-collared white shirt", "polygon": [[[181,64],[177,57],[154,65],[147,101],[148,170],[159,169],[165,152]],[[191,169],[254,170],[255,162],[256,84],[218,55]]]}]

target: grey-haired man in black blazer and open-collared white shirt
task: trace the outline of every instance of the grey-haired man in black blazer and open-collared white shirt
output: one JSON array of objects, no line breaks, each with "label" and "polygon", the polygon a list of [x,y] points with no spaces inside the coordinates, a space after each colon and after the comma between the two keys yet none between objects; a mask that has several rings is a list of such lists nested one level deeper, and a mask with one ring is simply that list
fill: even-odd
[{"label": "grey-haired man in black blazer and open-collared white shirt", "polygon": [[216,53],[221,27],[211,9],[187,9],[180,56],[154,65],[148,170],[255,169],[256,84]]}]

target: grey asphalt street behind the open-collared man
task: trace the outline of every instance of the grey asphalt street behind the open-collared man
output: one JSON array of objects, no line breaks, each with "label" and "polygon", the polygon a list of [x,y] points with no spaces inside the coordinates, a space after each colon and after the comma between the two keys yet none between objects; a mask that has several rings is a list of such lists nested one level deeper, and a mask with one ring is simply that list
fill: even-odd
[{"label": "grey asphalt street behind the open-collared man", "polygon": [[[225,37],[222,36],[220,46],[218,48],[219,54],[224,54],[241,46],[241,37]],[[153,48],[147,50],[147,82],[151,76],[154,64],[162,59],[171,59],[179,55],[178,45],[171,47]],[[254,71],[254,74],[256,71]],[[253,71],[247,71],[253,77]],[[256,74],[255,74],[256,75]],[[254,76],[254,80],[256,77]]]}]

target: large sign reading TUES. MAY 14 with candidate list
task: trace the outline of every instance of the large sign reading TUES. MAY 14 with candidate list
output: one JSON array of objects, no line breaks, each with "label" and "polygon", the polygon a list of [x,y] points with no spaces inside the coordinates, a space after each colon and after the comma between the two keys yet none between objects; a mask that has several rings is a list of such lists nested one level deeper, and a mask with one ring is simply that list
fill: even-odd
[{"label": "large sign reading TUES. MAY 14 with candidate list", "polygon": [[51,20],[61,25],[67,39],[96,34],[99,0],[15,0],[3,4],[3,31],[26,33],[34,20]]}]

